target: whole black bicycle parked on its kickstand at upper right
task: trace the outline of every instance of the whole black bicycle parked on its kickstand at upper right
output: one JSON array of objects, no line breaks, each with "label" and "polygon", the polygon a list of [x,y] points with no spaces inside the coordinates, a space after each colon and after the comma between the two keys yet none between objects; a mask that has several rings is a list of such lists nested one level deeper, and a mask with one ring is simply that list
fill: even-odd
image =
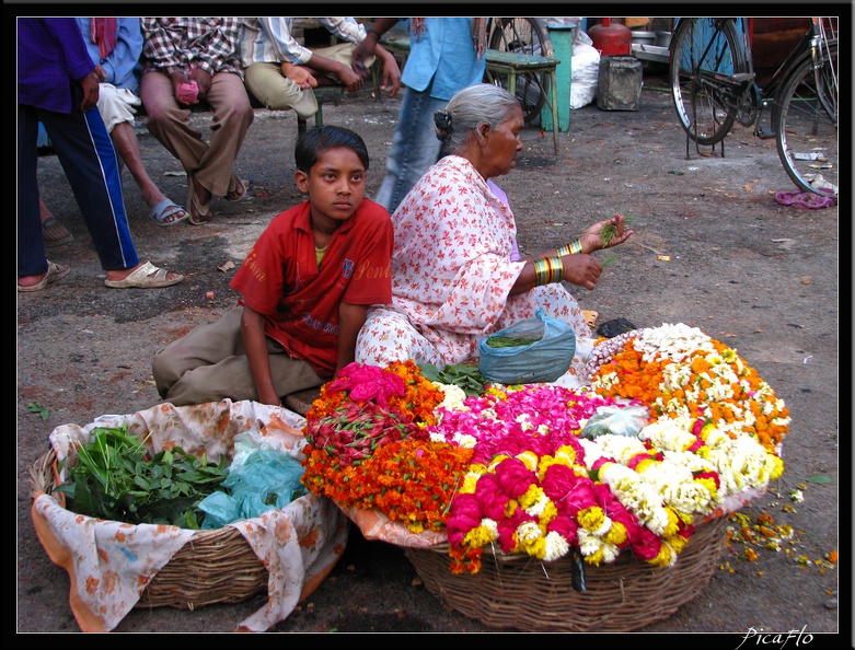
[{"label": "whole black bicycle parked on its kickstand at upper right", "polygon": [[755,83],[750,20],[684,18],[674,27],[669,81],[686,132],[686,158],[690,140],[714,149],[720,142],[724,156],[725,136],[738,121],[753,126],[761,139],[776,139],[784,170],[802,191],[836,200],[836,19],[811,18],[810,28],[762,89]]}]

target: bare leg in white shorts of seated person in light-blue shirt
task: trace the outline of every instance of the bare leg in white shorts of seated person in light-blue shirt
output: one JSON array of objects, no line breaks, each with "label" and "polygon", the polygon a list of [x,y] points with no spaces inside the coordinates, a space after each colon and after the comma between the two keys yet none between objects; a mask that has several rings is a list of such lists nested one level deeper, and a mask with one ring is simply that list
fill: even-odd
[{"label": "bare leg in white shorts of seated person in light-blue shirt", "polygon": [[[130,175],[140,188],[142,199],[153,209],[167,199],[149,176],[146,165],[142,164],[137,134],[134,130],[135,106],[140,104],[139,97],[128,89],[117,89],[112,83],[100,85],[97,107],[107,132],[119,158],[127,165]],[[163,223],[180,221],[185,214],[184,210],[176,210],[175,213],[166,217]]]}]

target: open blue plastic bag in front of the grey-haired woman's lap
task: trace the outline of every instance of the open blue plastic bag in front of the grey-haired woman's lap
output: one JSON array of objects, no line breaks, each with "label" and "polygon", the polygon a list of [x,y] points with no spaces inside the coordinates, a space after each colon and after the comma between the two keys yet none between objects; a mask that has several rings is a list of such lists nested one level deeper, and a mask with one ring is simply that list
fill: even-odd
[{"label": "open blue plastic bag in front of the grey-haired woman's lap", "polygon": [[[536,339],[532,344],[493,347],[496,337]],[[576,353],[576,333],[564,321],[534,316],[515,323],[478,341],[478,371],[488,382],[498,384],[538,384],[554,382],[570,367]]]}]

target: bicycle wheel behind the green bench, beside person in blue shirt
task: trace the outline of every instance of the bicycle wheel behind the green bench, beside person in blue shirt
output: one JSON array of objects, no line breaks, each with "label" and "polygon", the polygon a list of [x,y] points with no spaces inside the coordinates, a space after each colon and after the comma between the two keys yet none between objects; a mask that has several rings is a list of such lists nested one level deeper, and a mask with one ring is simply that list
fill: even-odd
[{"label": "bicycle wheel behind the green bench, beside person in blue shirt", "polygon": [[[538,57],[551,57],[552,40],[546,25],[536,18],[495,18],[489,35],[490,49]],[[486,80],[501,88],[508,88],[507,74],[486,73]],[[531,123],[540,117],[550,91],[550,76],[545,72],[524,72],[517,76],[516,96],[522,106],[522,117]]]}]

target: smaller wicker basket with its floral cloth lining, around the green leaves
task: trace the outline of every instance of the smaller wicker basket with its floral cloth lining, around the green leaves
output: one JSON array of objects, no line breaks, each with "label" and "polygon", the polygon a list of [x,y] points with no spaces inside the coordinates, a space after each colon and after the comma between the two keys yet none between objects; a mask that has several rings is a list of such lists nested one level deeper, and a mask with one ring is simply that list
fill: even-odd
[{"label": "smaller wicker basket with its floral cloth lining, around the green leaves", "polygon": [[[252,402],[162,405],[130,416],[102,416],[86,427],[66,425],[51,448],[30,467],[33,522],[50,559],[71,578],[70,603],[83,631],[108,631],[134,607],[195,610],[236,603],[267,592],[264,606],[235,626],[264,631],[290,614],[344,553],[348,524],[328,500],[314,495],[217,530],[185,530],[95,520],[65,509],[54,495],[58,459],[94,427],[128,427],[152,445],[175,442],[217,460],[232,439],[250,432],[301,457],[301,416]],[[294,561],[294,553],[297,561]],[[136,561],[124,558],[136,558]],[[293,566],[291,566],[293,565]],[[96,585],[91,589],[91,585]]]}]

